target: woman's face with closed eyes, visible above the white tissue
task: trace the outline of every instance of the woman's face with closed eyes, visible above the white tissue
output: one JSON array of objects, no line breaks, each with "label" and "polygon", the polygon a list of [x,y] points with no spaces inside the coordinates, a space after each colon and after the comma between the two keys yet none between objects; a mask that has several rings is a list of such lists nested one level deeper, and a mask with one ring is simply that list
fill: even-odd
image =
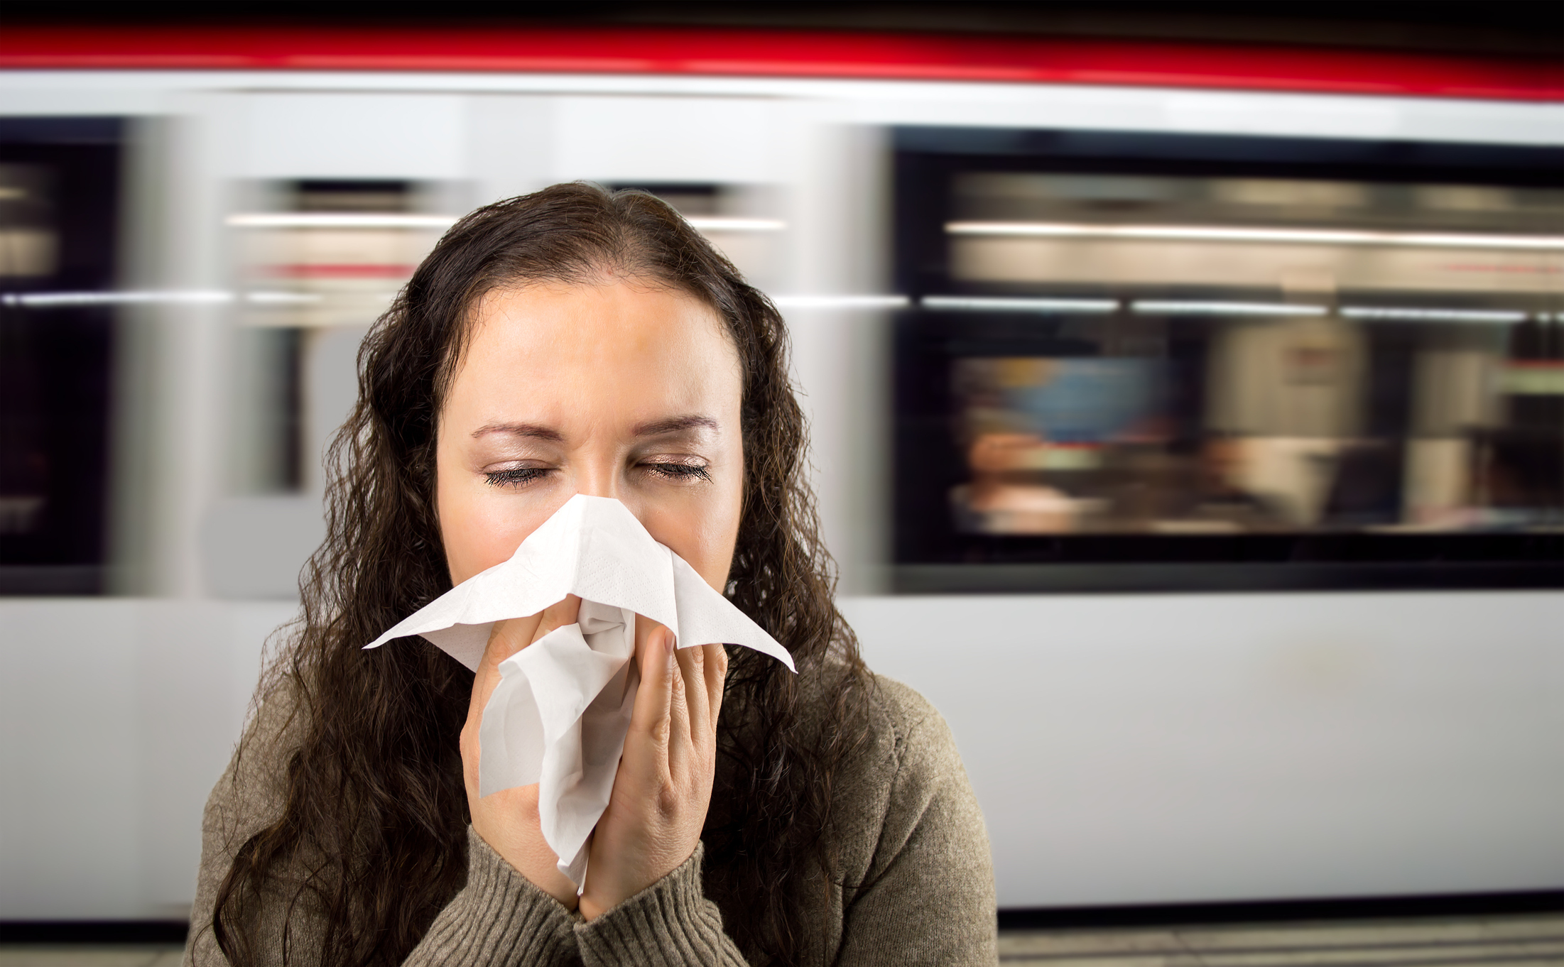
[{"label": "woman's face with closed eyes, visible above the white tissue", "polygon": [[452,583],[590,494],[721,591],[743,505],[740,397],[738,351],[691,295],[624,281],[491,292],[439,414]]}]

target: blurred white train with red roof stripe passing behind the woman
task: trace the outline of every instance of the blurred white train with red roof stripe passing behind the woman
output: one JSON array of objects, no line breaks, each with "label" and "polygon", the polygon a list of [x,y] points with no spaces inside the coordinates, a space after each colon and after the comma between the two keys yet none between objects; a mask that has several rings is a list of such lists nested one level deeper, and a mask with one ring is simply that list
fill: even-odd
[{"label": "blurred white train with red roof stripe passing behind the woman", "polygon": [[0,920],[188,911],[358,341],[455,217],[579,178],[787,316],[841,606],[951,723],[1001,908],[1564,887],[1551,73],[8,33]]}]

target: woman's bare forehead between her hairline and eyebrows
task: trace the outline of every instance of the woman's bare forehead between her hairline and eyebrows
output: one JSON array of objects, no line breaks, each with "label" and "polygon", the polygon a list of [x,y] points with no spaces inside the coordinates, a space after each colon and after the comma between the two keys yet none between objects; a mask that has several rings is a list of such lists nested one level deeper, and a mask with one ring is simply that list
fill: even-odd
[{"label": "woman's bare forehead between her hairline and eyebrows", "polygon": [[719,406],[741,389],[721,317],[677,289],[629,281],[500,289],[474,308],[471,326],[446,416],[644,417]]}]

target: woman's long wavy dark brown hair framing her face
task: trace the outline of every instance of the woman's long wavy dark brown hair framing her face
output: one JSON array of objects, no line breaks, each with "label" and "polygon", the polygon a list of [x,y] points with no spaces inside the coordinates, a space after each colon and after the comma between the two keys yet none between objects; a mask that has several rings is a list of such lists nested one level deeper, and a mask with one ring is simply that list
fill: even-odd
[{"label": "woman's long wavy dark brown hair framing her face", "polygon": [[[705,886],[748,956],[801,956],[802,909],[835,872],[832,778],[863,737],[870,678],[832,600],[787,330],[665,203],[557,184],[452,227],[360,350],[358,405],[327,456],[327,539],[258,692],[294,694],[302,744],[286,759],[282,817],[241,845],[217,892],[211,926],[233,964],[258,959],[263,897],[286,903],[289,919],[310,909],[324,922],[322,964],[368,965],[400,964],[461,887],[469,820],[457,740],[472,673],[418,637],[360,648],[450,589],[435,428],[472,306],[500,286],[610,270],[702,298],[738,348],[744,506],[727,597],[793,653],[799,676],[730,650]],[[805,722],[809,676],[818,706]]]}]

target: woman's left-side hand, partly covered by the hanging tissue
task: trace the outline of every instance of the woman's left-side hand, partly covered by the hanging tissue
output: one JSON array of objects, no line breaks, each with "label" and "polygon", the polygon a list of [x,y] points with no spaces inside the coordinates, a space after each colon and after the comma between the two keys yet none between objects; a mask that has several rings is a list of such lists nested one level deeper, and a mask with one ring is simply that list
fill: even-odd
[{"label": "woman's left-side hand, partly covered by the hanging tissue", "polygon": [[555,628],[574,625],[580,603],[579,597],[571,595],[540,614],[494,623],[488,647],[483,650],[483,661],[479,662],[477,676],[472,680],[468,722],[461,726],[461,776],[468,786],[472,828],[505,862],[566,909],[576,909],[576,884],[560,872],[558,858],[543,839],[536,783],[504,789],[488,797],[479,795],[479,725],[483,722],[483,708],[499,684],[499,662]]}]

